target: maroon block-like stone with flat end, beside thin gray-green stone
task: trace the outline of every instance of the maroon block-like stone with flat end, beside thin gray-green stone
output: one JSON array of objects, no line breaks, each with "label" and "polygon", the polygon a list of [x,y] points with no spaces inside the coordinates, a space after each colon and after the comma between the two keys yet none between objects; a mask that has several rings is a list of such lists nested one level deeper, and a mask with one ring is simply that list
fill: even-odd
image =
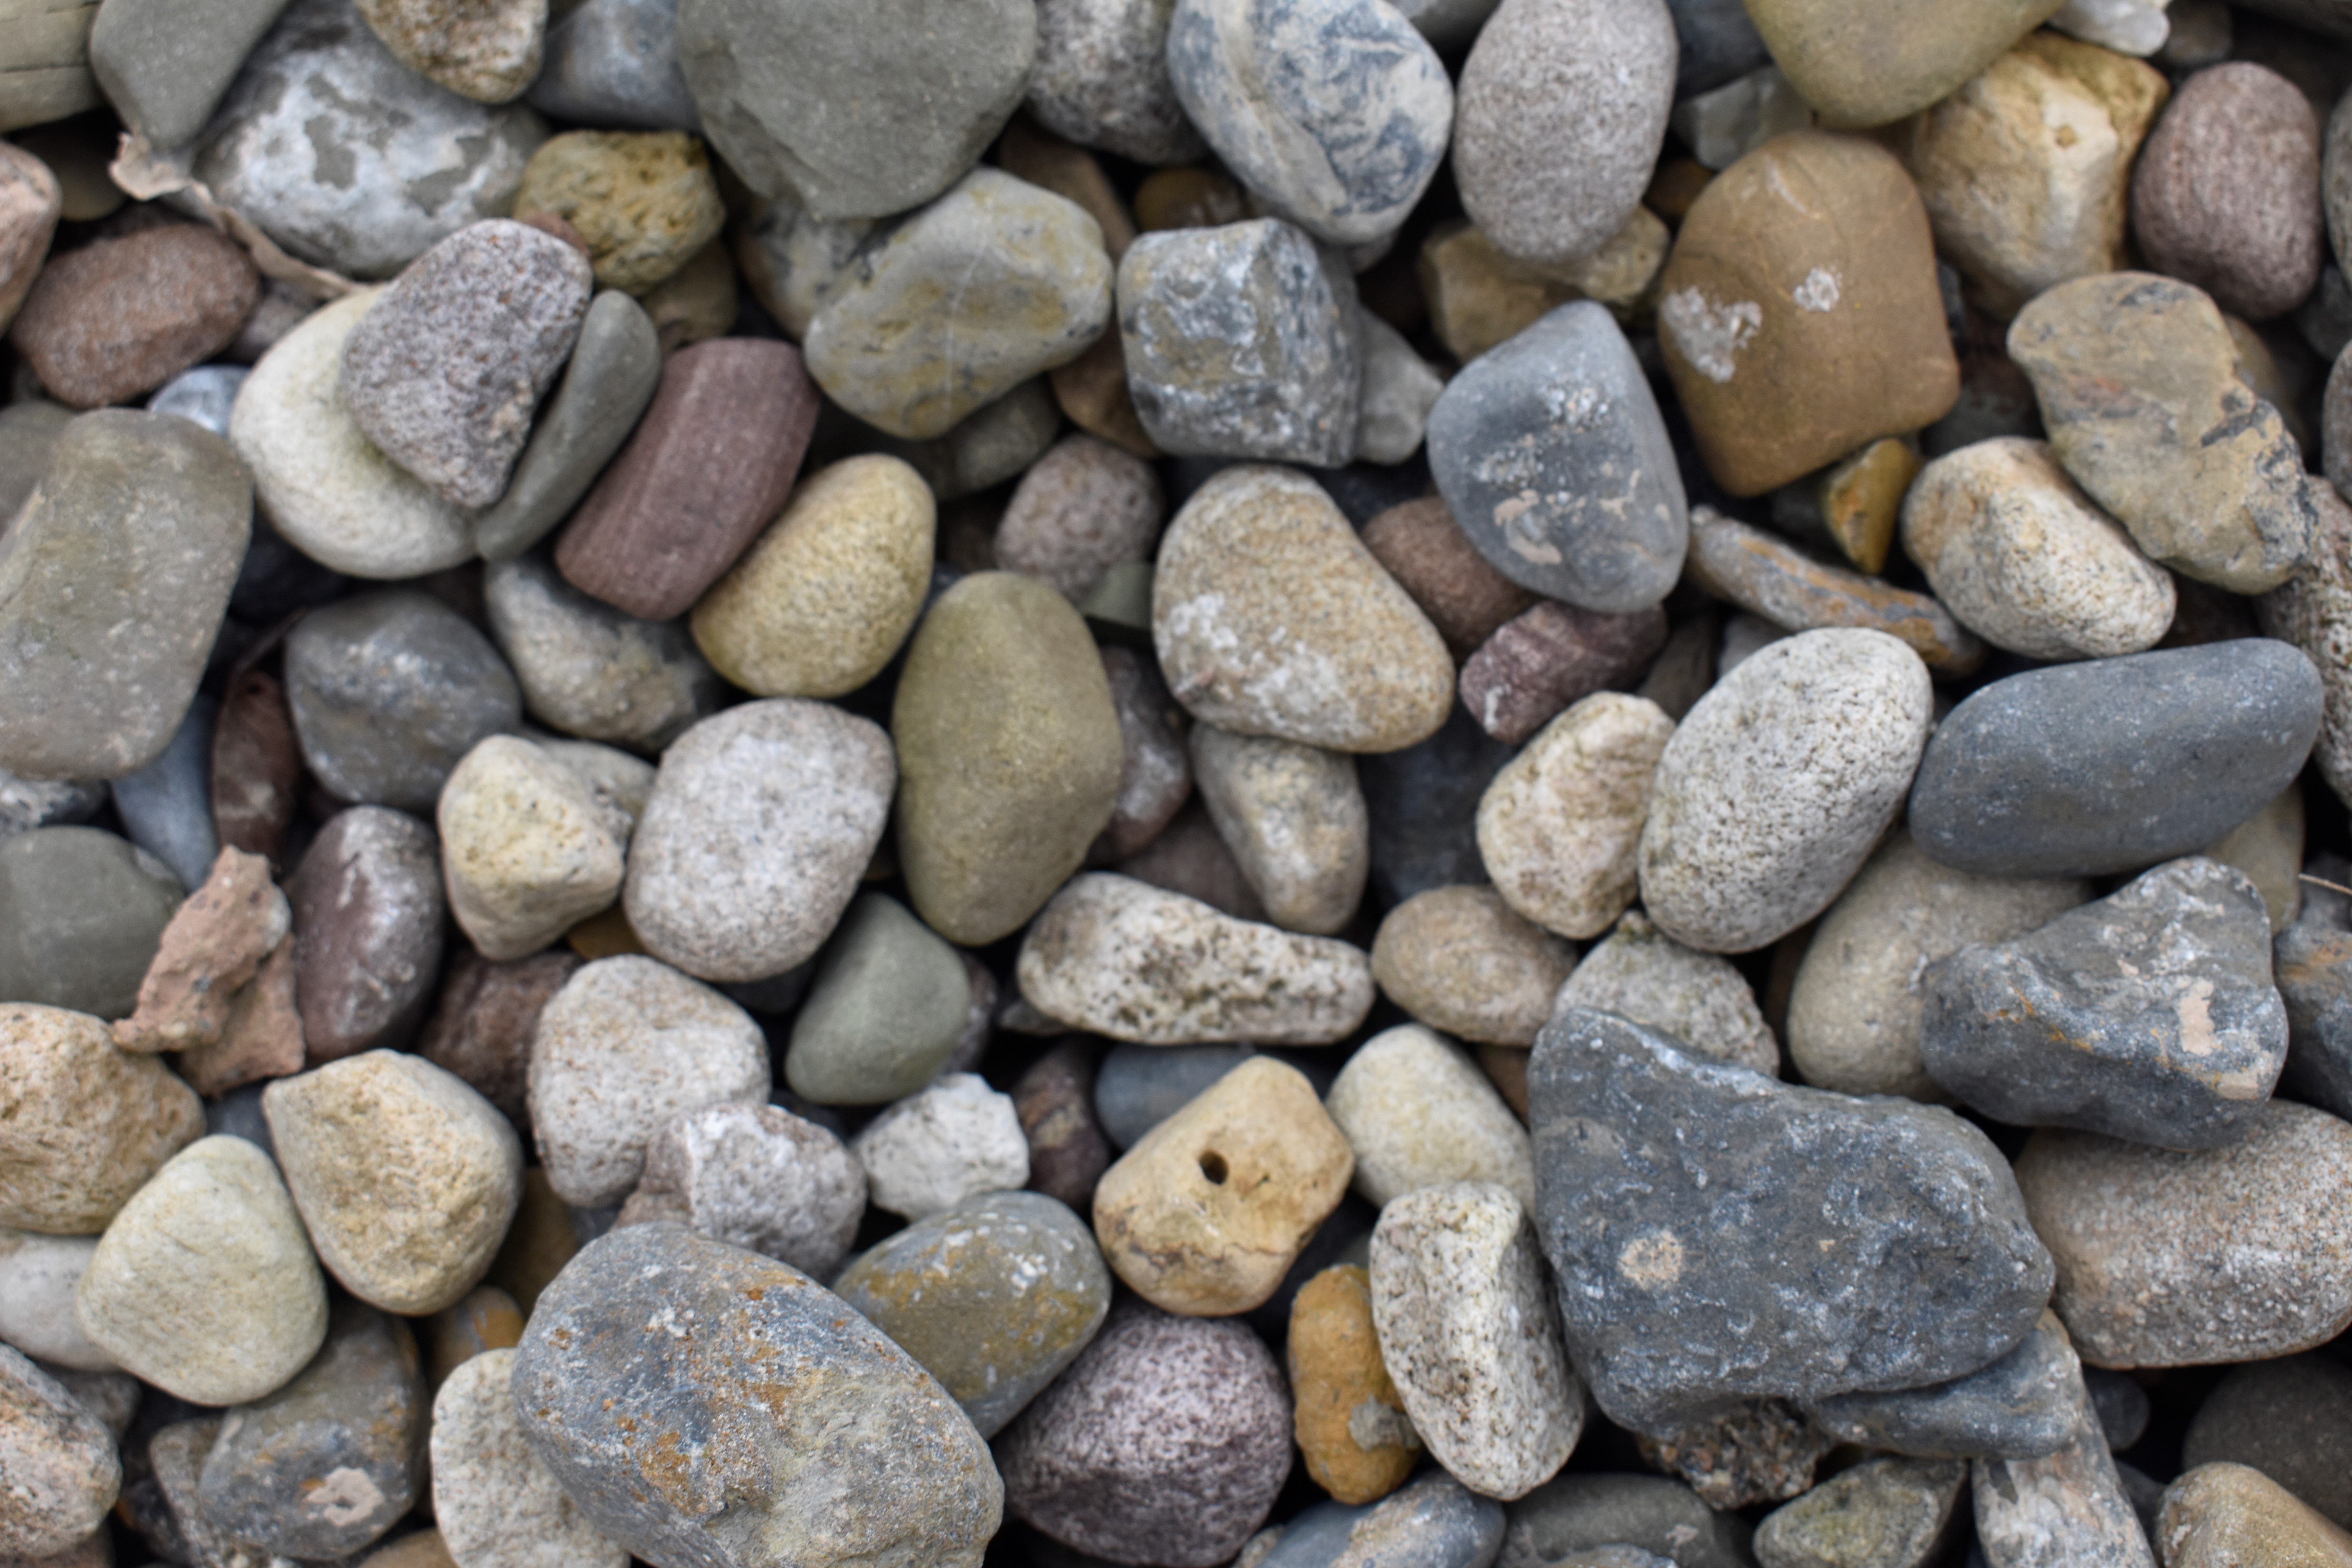
[{"label": "maroon block-like stone with flat end, beside thin gray-green stone", "polygon": [[816,402],[790,343],[677,350],[637,433],[564,527],[555,569],[642,621],[687,614],[783,510]]}]

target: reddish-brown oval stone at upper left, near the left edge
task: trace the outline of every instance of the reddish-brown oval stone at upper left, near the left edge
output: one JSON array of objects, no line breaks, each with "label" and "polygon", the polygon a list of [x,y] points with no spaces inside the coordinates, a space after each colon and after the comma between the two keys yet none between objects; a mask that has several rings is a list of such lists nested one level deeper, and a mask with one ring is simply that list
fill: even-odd
[{"label": "reddish-brown oval stone at upper left, near the left edge", "polygon": [[228,348],[259,299],[261,273],[235,240],[165,223],[52,256],[9,341],[52,397],[96,409]]}]

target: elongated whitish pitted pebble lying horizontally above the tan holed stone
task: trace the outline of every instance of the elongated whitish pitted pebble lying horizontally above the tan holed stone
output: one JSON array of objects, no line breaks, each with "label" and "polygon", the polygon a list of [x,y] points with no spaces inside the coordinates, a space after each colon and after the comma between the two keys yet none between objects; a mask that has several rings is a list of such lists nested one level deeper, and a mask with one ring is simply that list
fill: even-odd
[{"label": "elongated whitish pitted pebble lying horizontally above the tan holed stone", "polygon": [[1371,1011],[1359,947],[1218,914],[1131,877],[1073,877],[1030,922],[1021,994],[1077,1030],[1176,1046],[1317,1046]]}]

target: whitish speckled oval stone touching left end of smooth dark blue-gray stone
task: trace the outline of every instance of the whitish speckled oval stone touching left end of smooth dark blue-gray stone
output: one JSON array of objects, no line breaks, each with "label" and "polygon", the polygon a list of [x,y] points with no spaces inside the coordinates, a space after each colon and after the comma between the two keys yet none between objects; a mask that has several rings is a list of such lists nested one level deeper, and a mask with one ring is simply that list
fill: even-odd
[{"label": "whitish speckled oval stone touching left end of smooth dark blue-gray stone", "polygon": [[1750,952],[1820,914],[1903,809],[1929,701],[1919,656],[1870,630],[1799,632],[1717,682],[1665,743],[1642,827],[1658,929]]}]

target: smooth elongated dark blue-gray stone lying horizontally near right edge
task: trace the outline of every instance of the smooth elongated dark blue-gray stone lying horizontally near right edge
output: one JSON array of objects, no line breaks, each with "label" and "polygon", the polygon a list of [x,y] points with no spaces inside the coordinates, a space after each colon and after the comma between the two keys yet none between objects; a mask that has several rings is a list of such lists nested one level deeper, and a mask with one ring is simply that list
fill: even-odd
[{"label": "smooth elongated dark blue-gray stone lying horizontally near right edge", "polygon": [[1936,729],[1910,835],[1980,877],[2098,877],[2192,853],[2303,771],[2319,696],[2312,661],[2270,637],[2011,675]]}]

